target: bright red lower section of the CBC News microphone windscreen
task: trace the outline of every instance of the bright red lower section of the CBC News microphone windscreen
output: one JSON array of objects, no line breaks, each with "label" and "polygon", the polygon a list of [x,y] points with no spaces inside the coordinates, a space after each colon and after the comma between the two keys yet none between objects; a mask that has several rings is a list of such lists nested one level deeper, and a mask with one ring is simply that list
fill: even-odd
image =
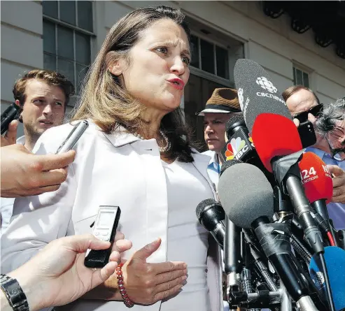
[{"label": "bright red lower section of the CBC News microphone windscreen", "polygon": [[256,152],[267,171],[272,173],[271,160],[302,150],[295,123],[282,115],[262,113],[255,119],[252,131]]}]

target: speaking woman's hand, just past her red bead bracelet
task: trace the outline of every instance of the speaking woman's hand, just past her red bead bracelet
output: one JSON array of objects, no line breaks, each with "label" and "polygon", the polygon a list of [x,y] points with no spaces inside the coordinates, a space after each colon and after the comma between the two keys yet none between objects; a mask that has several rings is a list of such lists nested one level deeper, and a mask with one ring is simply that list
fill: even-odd
[{"label": "speaking woman's hand, just past her red bead bracelet", "polygon": [[[162,240],[157,239],[135,252],[122,267],[125,290],[130,300],[142,305],[151,305],[176,294],[187,279],[187,265],[182,261],[147,263]],[[111,280],[105,282],[115,281]],[[110,285],[110,284],[108,284]]]}]

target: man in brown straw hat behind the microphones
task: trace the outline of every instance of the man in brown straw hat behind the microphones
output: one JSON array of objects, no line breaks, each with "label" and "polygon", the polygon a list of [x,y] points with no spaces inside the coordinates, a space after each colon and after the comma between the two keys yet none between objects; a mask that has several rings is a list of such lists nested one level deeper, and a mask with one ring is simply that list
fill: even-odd
[{"label": "man in brown straw hat behind the microphones", "polygon": [[204,139],[209,150],[203,153],[211,157],[207,172],[216,187],[222,164],[219,154],[226,143],[225,125],[230,117],[239,114],[241,114],[241,108],[237,90],[230,88],[215,89],[206,102],[205,109],[197,113],[204,117]]}]

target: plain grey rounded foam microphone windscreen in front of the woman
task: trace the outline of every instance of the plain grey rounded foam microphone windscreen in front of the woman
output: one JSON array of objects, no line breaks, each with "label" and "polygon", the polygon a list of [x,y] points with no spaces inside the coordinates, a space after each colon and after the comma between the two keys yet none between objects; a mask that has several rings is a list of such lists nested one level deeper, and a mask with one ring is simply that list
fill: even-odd
[{"label": "plain grey rounded foam microphone windscreen in front of the woman", "polygon": [[228,167],[219,178],[218,195],[229,219],[241,228],[249,229],[255,219],[274,214],[272,187],[251,164]]}]

